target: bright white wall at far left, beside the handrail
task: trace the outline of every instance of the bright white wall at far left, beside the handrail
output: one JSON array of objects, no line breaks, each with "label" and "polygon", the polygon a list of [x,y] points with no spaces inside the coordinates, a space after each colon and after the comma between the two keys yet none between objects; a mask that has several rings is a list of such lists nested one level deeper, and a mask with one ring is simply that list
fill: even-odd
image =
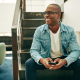
[{"label": "bright white wall at far left, beside the handrail", "polygon": [[0,3],[0,33],[11,33],[15,3]]}]

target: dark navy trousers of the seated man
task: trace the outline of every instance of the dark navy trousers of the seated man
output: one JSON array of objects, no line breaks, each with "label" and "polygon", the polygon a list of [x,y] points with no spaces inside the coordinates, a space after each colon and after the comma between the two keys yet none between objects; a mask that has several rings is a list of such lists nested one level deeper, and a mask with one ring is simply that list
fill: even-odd
[{"label": "dark navy trousers of the seated man", "polygon": [[[37,80],[36,70],[43,69],[46,69],[44,65],[37,64],[32,58],[28,59],[25,62],[26,80]],[[63,66],[61,69],[73,70],[73,80],[80,80],[80,59],[70,64],[68,67]]]}]

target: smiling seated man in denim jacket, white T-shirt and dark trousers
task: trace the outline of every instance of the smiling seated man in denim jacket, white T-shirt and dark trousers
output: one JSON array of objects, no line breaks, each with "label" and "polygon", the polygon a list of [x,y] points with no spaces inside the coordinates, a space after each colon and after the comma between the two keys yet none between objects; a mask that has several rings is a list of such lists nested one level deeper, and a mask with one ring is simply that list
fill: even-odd
[{"label": "smiling seated man in denim jacket, white T-shirt and dark trousers", "polygon": [[[38,27],[26,61],[26,80],[37,80],[37,69],[73,69],[73,80],[80,80],[80,48],[74,29],[59,20],[61,8],[57,4],[48,5],[44,12],[46,24]],[[70,49],[70,54],[68,53]],[[56,62],[51,65],[49,62]],[[73,66],[74,65],[74,66]]]}]

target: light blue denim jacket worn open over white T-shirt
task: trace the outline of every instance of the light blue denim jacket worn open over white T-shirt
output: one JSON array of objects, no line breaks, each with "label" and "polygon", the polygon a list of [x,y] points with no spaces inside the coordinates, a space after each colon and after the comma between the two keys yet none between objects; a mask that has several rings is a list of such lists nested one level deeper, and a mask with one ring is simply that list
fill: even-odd
[{"label": "light blue denim jacket worn open over white T-shirt", "polygon": [[[60,38],[61,38],[61,48],[64,56],[67,56],[67,66],[72,62],[75,62],[80,55],[80,47],[77,42],[77,38],[74,29],[68,25],[60,22]],[[68,53],[68,47],[71,53]],[[39,26],[33,37],[32,46],[30,49],[31,57],[36,63],[39,63],[40,58],[51,58],[51,37],[49,32],[49,26],[43,24]]]}]

